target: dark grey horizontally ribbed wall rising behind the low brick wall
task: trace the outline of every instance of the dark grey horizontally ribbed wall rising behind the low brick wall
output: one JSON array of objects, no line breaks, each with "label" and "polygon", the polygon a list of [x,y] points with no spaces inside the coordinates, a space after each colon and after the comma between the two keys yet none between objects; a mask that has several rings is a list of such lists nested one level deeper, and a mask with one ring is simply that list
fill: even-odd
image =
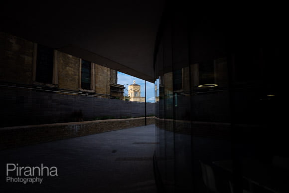
[{"label": "dark grey horizontally ribbed wall rising behind the low brick wall", "polygon": [[[0,87],[0,127],[144,116],[144,103]],[[147,103],[146,114],[154,114]]]}]

